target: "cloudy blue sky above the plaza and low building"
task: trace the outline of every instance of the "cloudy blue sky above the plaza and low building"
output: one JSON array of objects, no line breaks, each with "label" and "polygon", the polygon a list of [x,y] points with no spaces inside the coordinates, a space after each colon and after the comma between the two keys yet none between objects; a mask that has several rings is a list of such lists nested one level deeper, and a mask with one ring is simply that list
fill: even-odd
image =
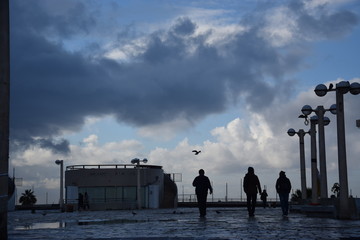
[{"label": "cloudy blue sky above the plaza and low building", "polygon": [[[283,170],[300,189],[301,108],[328,109],[318,84],[360,82],[357,0],[10,1],[10,169],[38,203],[57,203],[59,166],[147,158],[203,168],[214,198],[244,197],[254,167],[269,197]],[[350,193],[360,196],[360,96],[345,94]],[[326,113],[329,195],[339,180]],[[201,150],[199,155],[193,149]],[[311,187],[310,137],[305,137]],[[226,193],[227,186],[227,193]]]}]

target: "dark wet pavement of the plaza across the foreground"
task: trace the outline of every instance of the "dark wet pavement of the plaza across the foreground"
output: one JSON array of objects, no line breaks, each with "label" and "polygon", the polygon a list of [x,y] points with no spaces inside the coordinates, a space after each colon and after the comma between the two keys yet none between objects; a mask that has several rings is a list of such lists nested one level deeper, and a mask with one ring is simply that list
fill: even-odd
[{"label": "dark wet pavement of the plaza across the foreground", "polygon": [[9,240],[29,239],[360,239],[359,220],[281,215],[280,208],[197,208],[8,213]]}]

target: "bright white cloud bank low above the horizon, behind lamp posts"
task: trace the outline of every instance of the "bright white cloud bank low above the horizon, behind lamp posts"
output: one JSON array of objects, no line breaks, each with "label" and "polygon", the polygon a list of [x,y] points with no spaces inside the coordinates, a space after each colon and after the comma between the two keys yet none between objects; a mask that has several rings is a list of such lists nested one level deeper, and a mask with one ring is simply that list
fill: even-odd
[{"label": "bright white cloud bank low above the horizon, behind lamp posts", "polygon": [[[344,79],[335,79],[333,84]],[[351,79],[359,82],[360,79]],[[328,85],[330,82],[325,83]],[[348,96],[349,95],[349,96]],[[216,196],[225,196],[224,185],[229,183],[232,196],[239,192],[240,178],[246,173],[249,166],[253,166],[263,185],[269,186],[272,197],[273,184],[280,170],[285,170],[295,189],[300,189],[299,172],[299,139],[295,135],[289,137],[287,130],[291,127],[308,131],[309,126],[298,119],[301,108],[309,104],[313,108],[323,105],[326,109],[334,103],[335,94],[329,92],[325,97],[317,97],[314,86],[289,101],[279,102],[269,109],[253,113],[244,110],[243,117],[230,120],[226,125],[213,128],[210,134],[212,140],[204,140],[198,144],[191,144],[189,139],[178,141],[174,147],[156,147],[146,150],[145,146],[136,140],[127,139],[101,143],[99,136],[92,134],[85,137],[82,144],[70,145],[71,155],[54,155],[50,149],[34,147],[13,156],[13,165],[16,166],[17,176],[23,177],[24,188],[32,185],[35,188],[47,186],[47,191],[58,189],[58,166],[56,159],[64,159],[65,165],[82,164],[129,164],[137,156],[148,158],[148,164],[161,165],[167,173],[179,173],[182,182],[178,188],[184,186],[186,193],[191,193],[191,182],[200,168],[205,169],[214,182]],[[357,160],[359,129],[355,127],[355,120],[359,113],[352,111],[359,106],[358,96],[345,95],[346,137],[348,149],[349,186],[354,194],[359,194],[355,186],[360,184],[360,171]],[[330,125],[325,128],[328,185],[338,182],[338,159],[336,142],[336,116],[327,112],[331,119]],[[193,149],[202,152],[199,155],[192,153]],[[307,181],[310,187],[310,137],[305,137]],[[44,170],[46,169],[46,170]],[[49,182],[49,184],[47,184]],[[179,190],[180,191],[180,190]]]}]

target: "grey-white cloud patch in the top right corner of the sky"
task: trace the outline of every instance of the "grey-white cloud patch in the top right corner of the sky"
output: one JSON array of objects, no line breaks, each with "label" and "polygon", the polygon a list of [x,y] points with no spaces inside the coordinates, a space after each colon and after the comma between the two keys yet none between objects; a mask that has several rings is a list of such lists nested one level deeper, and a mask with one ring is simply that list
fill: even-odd
[{"label": "grey-white cloud patch in the top right corner of the sky", "polygon": [[330,10],[328,1],[291,1],[265,12],[261,33],[276,47],[342,38],[358,24],[349,10]]}]

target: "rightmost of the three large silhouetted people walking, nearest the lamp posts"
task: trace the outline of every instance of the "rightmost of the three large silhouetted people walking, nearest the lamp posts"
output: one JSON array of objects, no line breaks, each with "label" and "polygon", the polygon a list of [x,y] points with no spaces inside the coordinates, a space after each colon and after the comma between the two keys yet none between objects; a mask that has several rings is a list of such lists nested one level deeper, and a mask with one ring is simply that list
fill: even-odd
[{"label": "rightmost of the three large silhouetted people walking, nearest the lamp posts", "polygon": [[289,211],[289,193],[291,190],[291,183],[290,180],[286,177],[285,172],[280,171],[275,187],[276,192],[279,194],[283,216],[287,216]]}]

